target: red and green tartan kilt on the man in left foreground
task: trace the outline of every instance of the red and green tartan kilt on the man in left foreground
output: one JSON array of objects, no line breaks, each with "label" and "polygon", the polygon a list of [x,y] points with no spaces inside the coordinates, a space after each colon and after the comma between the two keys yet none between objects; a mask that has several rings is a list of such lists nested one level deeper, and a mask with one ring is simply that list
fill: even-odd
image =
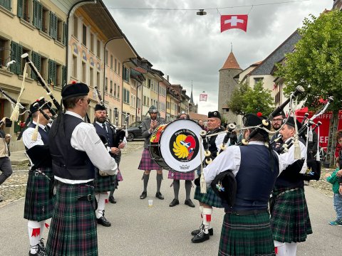
[{"label": "red and green tartan kilt on the man in left foreground", "polygon": [[48,256],[98,255],[93,201],[79,201],[81,196],[91,195],[93,186],[85,184],[56,185],[56,204],[46,243]]}]

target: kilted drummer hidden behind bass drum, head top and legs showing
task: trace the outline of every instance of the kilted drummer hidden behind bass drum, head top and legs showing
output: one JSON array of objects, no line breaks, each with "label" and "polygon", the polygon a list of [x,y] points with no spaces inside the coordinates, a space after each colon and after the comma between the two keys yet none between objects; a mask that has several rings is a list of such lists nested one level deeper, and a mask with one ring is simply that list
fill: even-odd
[{"label": "kilted drummer hidden behind bass drum, head top and legs showing", "polygon": [[[182,111],[178,117],[178,119],[190,119],[189,114]],[[187,173],[180,173],[178,171],[169,171],[168,178],[172,178],[172,186],[173,186],[173,193],[175,193],[175,198],[173,198],[172,202],[170,203],[170,207],[177,206],[180,204],[178,200],[178,194],[180,193],[180,180],[185,181],[185,205],[190,207],[195,207],[195,204],[192,203],[190,199],[190,192],[192,187],[192,181],[195,179],[195,171],[190,171]]]}]

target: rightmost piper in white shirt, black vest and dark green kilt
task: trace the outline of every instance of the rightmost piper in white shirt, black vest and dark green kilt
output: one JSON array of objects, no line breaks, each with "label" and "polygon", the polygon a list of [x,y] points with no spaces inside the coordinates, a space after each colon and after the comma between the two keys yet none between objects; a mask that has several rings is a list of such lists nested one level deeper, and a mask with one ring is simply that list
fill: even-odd
[{"label": "rightmost piper in white shirt, black vest and dark green kilt", "polygon": [[[283,120],[286,122],[280,134],[283,142],[294,136],[294,117]],[[300,129],[301,123],[296,120]],[[299,141],[301,158],[306,155],[303,141]],[[276,179],[271,197],[271,228],[274,237],[274,246],[278,255],[296,255],[297,242],[304,242],[306,236],[312,233],[308,206],[304,194],[304,180],[299,174],[303,164],[294,159],[294,146],[289,152],[281,154],[284,162],[289,165]]]}]

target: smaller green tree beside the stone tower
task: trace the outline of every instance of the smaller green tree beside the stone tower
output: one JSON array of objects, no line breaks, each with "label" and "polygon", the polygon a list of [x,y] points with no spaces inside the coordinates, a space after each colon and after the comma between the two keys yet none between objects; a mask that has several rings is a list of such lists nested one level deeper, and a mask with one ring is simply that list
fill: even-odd
[{"label": "smaller green tree beside the stone tower", "polygon": [[268,116],[273,110],[273,100],[271,91],[264,89],[262,82],[259,81],[253,88],[247,83],[240,84],[232,92],[227,105],[234,114],[261,112],[264,116]]}]

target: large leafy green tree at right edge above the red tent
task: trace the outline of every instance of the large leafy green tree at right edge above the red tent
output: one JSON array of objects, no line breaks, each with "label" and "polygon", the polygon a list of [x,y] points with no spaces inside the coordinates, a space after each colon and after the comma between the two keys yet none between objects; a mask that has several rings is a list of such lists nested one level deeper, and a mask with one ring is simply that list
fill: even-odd
[{"label": "large leafy green tree at right edge above the red tent", "polygon": [[[285,79],[287,95],[297,85],[303,86],[306,92],[300,97],[311,110],[317,108],[322,97],[333,96],[328,139],[328,156],[333,156],[334,130],[342,100],[342,12],[328,11],[318,18],[312,15],[311,19],[305,18],[299,34],[301,40],[294,52],[286,55],[285,64],[278,65],[276,75]],[[332,164],[334,157],[330,159]]]}]

